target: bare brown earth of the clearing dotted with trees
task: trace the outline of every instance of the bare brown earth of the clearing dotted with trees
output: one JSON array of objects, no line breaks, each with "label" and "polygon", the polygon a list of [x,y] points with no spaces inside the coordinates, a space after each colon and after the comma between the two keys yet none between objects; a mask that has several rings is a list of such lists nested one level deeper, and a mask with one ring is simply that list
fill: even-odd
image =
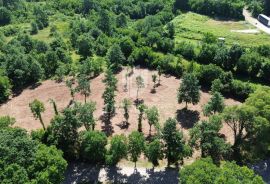
[{"label": "bare brown earth of the clearing dotted with trees", "polygon": [[[122,127],[124,117],[123,110],[121,107],[121,101],[124,98],[129,98],[132,102],[136,99],[136,82],[135,78],[138,75],[143,76],[145,81],[145,88],[141,89],[139,92],[139,98],[143,99],[147,106],[157,106],[160,112],[160,124],[164,123],[169,117],[176,117],[179,122],[179,128],[182,128],[184,134],[187,136],[188,129],[191,128],[195,122],[200,119],[205,119],[202,114],[202,106],[205,105],[209,99],[210,94],[206,92],[201,92],[201,100],[197,105],[188,105],[188,111],[183,111],[185,104],[177,103],[177,89],[180,85],[180,80],[172,76],[162,76],[161,85],[156,88],[156,93],[151,93],[153,88],[152,74],[155,71],[149,71],[147,69],[135,69],[134,74],[128,78],[128,92],[125,92],[124,85],[126,83],[126,71],[122,71],[117,75],[118,78],[118,92],[116,96],[116,115],[111,120],[111,125],[105,126],[100,120],[103,114],[103,99],[102,93],[104,91],[104,84],[102,79],[104,75],[93,79],[91,81],[91,96],[88,97],[88,101],[92,100],[97,103],[97,111],[95,116],[97,118],[97,129],[102,129],[107,133],[115,134],[126,134],[128,135],[131,131],[137,130],[137,118],[138,110],[135,104],[132,105],[130,109],[130,119],[129,126]],[[54,99],[57,103],[58,109],[63,110],[69,104],[71,99],[70,92],[65,86],[65,83],[56,83],[55,81],[48,80],[44,81],[40,86],[32,89],[28,88],[24,90],[20,95],[13,97],[6,104],[0,106],[0,116],[9,115],[16,118],[15,126],[22,127],[28,131],[36,130],[42,128],[39,121],[36,120],[29,108],[29,103],[34,99],[38,99],[45,104],[45,112],[42,114],[44,122],[49,125],[54,112],[52,104],[49,99]],[[84,97],[77,94],[75,97],[77,101],[83,101]],[[236,105],[240,104],[232,99],[225,100],[226,105]],[[154,128],[153,128],[154,129]],[[143,121],[143,131],[147,135],[149,133],[149,125],[147,120]],[[225,134],[228,140],[232,140],[232,132],[227,126],[224,126],[221,133]]]}]

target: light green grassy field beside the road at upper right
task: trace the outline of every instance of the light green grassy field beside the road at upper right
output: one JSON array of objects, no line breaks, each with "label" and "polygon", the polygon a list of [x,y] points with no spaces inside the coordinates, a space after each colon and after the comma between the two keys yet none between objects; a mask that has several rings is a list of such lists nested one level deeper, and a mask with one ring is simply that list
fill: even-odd
[{"label": "light green grassy field beside the road at upper right", "polygon": [[232,32],[232,30],[256,29],[245,21],[219,21],[196,13],[185,13],[172,21],[176,27],[176,42],[188,40],[197,42],[204,33],[212,33],[224,37],[227,44],[239,43],[246,47],[269,44],[270,35],[265,33],[247,34]]}]

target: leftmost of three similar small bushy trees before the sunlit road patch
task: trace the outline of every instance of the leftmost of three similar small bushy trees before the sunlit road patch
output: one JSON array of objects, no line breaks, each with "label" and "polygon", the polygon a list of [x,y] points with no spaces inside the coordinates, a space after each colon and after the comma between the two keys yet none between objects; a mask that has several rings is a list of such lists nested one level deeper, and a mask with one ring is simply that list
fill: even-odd
[{"label": "leftmost of three similar small bushy trees before the sunlit road patch", "polygon": [[122,158],[127,156],[128,140],[124,135],[112,137],[110,148],[106,155],[106,163],[116,165]]}]

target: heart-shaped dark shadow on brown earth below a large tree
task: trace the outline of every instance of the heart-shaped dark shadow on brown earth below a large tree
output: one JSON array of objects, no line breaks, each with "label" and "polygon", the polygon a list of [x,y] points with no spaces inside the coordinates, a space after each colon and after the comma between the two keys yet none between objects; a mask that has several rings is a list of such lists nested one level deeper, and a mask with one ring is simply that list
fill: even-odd
[{"label": "heart-shaped dark shadow on brown earth below a large tree", "polygon": [[200,113],[198,111],[192,111],[186,108],[177,110],[177,121],[185,129],[192,128],[195,123],[200,120]]}]

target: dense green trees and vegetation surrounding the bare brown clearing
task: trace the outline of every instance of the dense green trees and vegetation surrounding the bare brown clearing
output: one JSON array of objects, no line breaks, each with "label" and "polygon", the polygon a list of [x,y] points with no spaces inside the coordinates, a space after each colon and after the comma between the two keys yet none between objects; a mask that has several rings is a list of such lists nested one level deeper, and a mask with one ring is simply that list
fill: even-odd
[{"label": "dense green trees and vegetation surrounding the bare brown clearing", "polygon": [[[177,41],[173,22],[188,11],[241,21],[245,7],[253,16],[270,15],[267,0],[0,0],[0,104],[45,80],[65,83],[72,97],[64,110],[51,99],[49,126],[42,117],[44,104],[31,99],[29,109],[42,126],[32,132],[0,114],[0,183],[60,184],[71,161],[115,166],[128,159],[136,167],[141,155],[153,167],[160,160],[180,166],[183,184],[264,183],[248,166],[270,156],[270,45],[231,45],[212,33],[197,44]],[[49,39],[40,39],[45,32]],[[200,89],[211,94],[203,107],[207,118],[189,130],[188,140],[175,118],[160,124],[157,107],[141,102],[140,76],[138,122],[130,122],[137,130],[125,136],[96,129],[96,103],[87,100],[91,80],[104,73],[103,118],[110,123],[118,108],[116,74],[138,65],[157,71],[153,93],[161,75],[181,78],[175,101],[185,103],[186,110],[198,104]],[[76,101],[75,94],[84,102]],[[225,106],[227,97],[242,104]],[[126,123],[132,105],[130,99],[121,104]],[[142,133],[143,119],[150,138]],[[220,134],[224,124],[234,143]],[[198,150],[201,159],[183,165]]]}]

